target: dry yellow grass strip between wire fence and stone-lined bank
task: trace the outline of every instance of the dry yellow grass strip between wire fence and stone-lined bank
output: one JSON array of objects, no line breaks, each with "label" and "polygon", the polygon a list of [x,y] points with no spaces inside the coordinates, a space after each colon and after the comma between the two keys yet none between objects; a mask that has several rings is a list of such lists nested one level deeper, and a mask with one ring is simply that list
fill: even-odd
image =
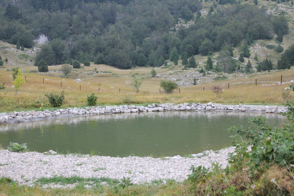
[{"label": "dry yellow grass strip between wire fence and stone-lined bank", "polygon": [[[10,88],[11,83],[8,81],[7,87],[2,91],[1,96],[3,100],[0,102],[0,111],[20,111],[20,110],[38,110],[43,103],[43,108],[50,108],[48,100],[44,98],[44,94],[48,92],[61,92],[63,88],[57,86],[51,86],[46,84],[36,84],[26,82],[21,87],[17,96],[14,95],[14,91]],[[132,97],[132,103],[134,104],[147,104],[147,103],[226,103],[226,104],[275,104],[282,105],[283,99],[281,93],[288,85],[279,86],[253,86],[232,88],[223,91],[220,98],[217,98],[212,91],[194,91],[193,93],[173,93],[173,94],[135,94],[129,93]],[[65,88],[65,100],[62,107],[77,107],[86,106],[87,95],[91,92],[83,92],[78,90],[72,90]],[[123,99],[127,93],[96,93],[98,95],[99,105],[120,105],[123,103]],[[36,103],[36,99],[39,103]],[[294,93],[291,92],[288,98],[294,101]]]}]

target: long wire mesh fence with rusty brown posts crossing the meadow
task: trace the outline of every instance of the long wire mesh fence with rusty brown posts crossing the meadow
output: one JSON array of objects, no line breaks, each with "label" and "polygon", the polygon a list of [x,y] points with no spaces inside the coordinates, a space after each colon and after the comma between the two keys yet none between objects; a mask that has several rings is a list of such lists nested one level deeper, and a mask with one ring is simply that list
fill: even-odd
[{"label": "long wire mesh fence with rusty brown posts crossing the meadow", "polygon": [[[6,84],[12,84],[12,76],[0,76],[1,81],[5,81]],[[60,88],[67,88],[71,90],[84,91],[84,92],[95,92],[95,93],[142,93],[142,94],[154,94],[154,93],[165,93],[162,88],[148,89],[148,90],[134,90],[134,89],[121,89],[121,88],[100,88],[100,87],[87,87],[79,84],[66,83],[62,81],[52,81],[46,78],[28,78],[25,75],[25,81],[27,83],[37,83],[44,85],[51,85]],[[194,85],[193,87],[178,88],[173,93],[193,93],[199,91],[211,91],[213,86],[220,86],[223,89],[240,88],[240,87],[259,87],[259,86],[272,86],[285,83],[294,83],[294,74],[280,75],[280,76],[269,76],[265,78],[246,78],[243,81],[234,81],[231,83],[216,83],[206,85]]]}]

